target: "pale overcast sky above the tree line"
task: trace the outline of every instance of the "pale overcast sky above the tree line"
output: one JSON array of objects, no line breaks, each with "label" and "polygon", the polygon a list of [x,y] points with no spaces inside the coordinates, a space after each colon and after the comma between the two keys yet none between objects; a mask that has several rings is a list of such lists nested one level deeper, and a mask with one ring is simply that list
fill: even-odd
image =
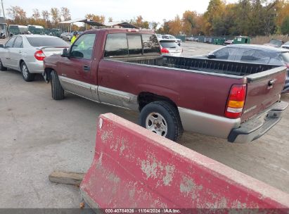
[{"label": "pale overcast sky above the tree line", "polygon": [[[23,8],[27,17],[32,15],[32,9],[39,11],[50,10],[51,7],[70,9],[72,19],[84,18],[87,13],[104,15],[105,22],[109,17],[113,21],[130,20],[142,15],[143,20],[162,23],[163,19],[172,20],[176,15],[180,17],[184,11],[204,13],[210,0],[3,0],[4,9],[11,6]],[[227,0],[236,2],[237,0]],[[7,11],[5,11],[7,16]]]}]

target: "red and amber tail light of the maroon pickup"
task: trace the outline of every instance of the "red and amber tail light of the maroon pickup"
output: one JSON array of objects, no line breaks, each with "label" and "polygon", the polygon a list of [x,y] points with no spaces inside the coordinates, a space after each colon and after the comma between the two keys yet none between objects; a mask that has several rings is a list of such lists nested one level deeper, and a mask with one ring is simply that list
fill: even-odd
[{"label": "red and amber tail light of the maroon pickup", "polygon": [[226,105],[226,118],[240,118],[245,104],[247,86],[245,84],[233,84]]}]

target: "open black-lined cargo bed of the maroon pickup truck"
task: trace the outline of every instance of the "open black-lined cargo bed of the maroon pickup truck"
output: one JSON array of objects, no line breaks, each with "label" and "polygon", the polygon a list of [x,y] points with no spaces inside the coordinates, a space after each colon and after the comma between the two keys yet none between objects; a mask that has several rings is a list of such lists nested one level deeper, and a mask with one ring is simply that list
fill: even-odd
[{"label": "open black-lined cargo bed of the maroon pickup truck", "polygon": [[114,60],[237,76],[252,75],[278,67],[276,65],[262,65],[255,63],[219,61],[213,59],[185,58],[174,56],[147,56],[134,58],[117,58]]}]

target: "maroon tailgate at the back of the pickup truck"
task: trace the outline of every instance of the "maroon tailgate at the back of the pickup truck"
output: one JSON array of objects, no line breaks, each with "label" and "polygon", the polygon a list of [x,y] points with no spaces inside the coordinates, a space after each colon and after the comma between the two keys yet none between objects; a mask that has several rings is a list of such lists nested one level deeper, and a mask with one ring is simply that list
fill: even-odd
[{"label": "maroon tailgate at the back of the pickup truck", "polygon": [[286,68],[283,66],[247,76],[247,96],[241,122],[264,111],[280,99],[285,76]]}]

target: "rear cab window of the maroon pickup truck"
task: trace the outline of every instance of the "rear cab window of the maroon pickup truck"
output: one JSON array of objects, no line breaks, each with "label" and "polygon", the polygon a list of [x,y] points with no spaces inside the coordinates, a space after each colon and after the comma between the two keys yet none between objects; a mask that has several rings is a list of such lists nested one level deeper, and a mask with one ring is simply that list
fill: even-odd
[{"label": "rear cab window of the maroon pickup truck", "polygon": [[108,34],[104,57],[160,55],[160,45],[155,34]]}]

